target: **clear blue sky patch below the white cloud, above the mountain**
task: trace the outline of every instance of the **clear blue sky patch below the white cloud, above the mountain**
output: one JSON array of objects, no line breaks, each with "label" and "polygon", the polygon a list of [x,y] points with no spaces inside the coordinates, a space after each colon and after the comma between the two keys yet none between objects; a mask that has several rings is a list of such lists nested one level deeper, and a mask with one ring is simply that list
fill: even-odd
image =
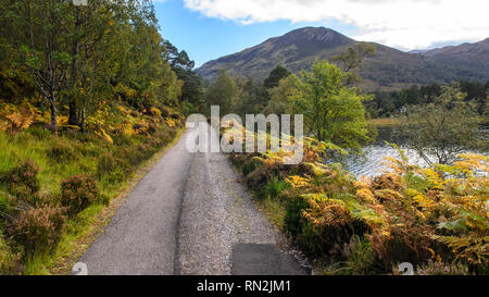
[{"label": "clear blue sky patch below the white cloud, above the mountain", "polygon": [[156,16],[163,38],[196,61],[196,67],[220,57],[256,46],[271,37],[305,26],[326,26],[342,34],[356,32],[354,26],[338,22],[275,21],[243,25],[231,20],[201,15],[184,8],[180,0],[155,2]]}]

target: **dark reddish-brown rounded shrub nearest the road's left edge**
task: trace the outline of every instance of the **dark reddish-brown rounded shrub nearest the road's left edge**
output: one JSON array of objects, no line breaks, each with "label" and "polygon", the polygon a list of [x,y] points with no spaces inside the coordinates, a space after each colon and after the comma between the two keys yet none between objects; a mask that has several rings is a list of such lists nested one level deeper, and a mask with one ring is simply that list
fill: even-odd
[{"label": "dark reddish-brown rounded shrub nearest the road's left edge", "polygon": [[98,196],[97,181],[90,175],[73,175],[61,183],[61,205],[70,216],[90,206]]}]

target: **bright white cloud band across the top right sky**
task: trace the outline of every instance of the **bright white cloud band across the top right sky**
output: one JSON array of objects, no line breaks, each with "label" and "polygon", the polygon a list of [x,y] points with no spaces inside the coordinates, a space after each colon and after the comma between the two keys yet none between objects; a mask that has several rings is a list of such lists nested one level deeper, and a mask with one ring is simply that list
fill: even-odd
[{"label": "bright white cloud band across the top right sky", "polygon": [[487,0],[184,0],[209,17],[243,24],[336,20],[356,26],[358,40],[402,49],[489,37]]}]

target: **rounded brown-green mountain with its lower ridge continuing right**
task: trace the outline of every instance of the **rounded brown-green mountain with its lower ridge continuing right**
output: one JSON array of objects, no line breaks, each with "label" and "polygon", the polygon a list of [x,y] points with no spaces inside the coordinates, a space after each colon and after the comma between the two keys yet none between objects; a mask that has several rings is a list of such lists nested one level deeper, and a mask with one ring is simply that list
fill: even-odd
[{"label": "rounded brown-green mountain with its lower ridge continuing right", "polygon": [[[478,48],[487,49],[484,47],[487,40],[481,41],[482,46]],[[304,27],[209,61],[196,72],[212,81],[221,69],[226,69],[231,75],[262,81],[278,64],[297,74],[301,70],[309,70],[314,61],[330,59],[358,42],[329,28]],[[455,79],[489,79],[489,67],[476,63],[488,59],[485,50],[471,50],[471,54],[452,61],[450,59],[457,55],[453,49],[447,49],[443,54],[432,50],[410,53],[379,44],[373,45],[377,48],[377,54],[366,58],[364,67],[359,71],[365,90],[390,90],[412,84],[449,83]]]}]

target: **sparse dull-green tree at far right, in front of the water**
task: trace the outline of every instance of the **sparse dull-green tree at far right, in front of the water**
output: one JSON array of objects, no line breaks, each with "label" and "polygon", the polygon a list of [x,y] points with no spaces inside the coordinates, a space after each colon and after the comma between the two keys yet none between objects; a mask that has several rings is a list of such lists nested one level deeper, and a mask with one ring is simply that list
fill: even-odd
[{"label": "sparse dull-green tree at far right, in front of the water", "polygon": [[428,164],[447,164],[456,154],[479,148],[477,104],[465,97],[456,83],[441,87],[434,102],[408,108],[398,134]]}]

